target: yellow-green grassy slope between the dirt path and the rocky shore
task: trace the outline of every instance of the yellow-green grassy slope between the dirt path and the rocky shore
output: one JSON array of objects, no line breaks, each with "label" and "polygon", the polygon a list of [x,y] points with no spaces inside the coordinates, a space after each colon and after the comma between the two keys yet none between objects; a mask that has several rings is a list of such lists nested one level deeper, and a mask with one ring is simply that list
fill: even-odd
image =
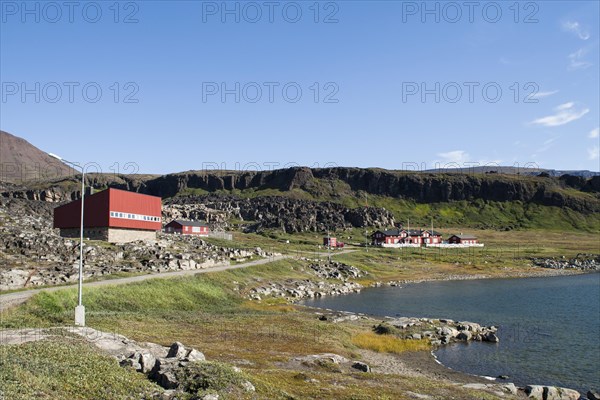
[{"label": "yellow-green grassy slope between the dirt path and the rocky shore", "polygon": [[[405,394],[407,391],[438,399],[495,398],[424,378],[341,374],[328,369],[298,371],[280,364],[295,356],[324,352],[360,358],[356,343],[361,345],[360,338],[364,339],[372,325],[370,321],[332,324],[319,321],[303,308],[278,301],[248,302],[239,296],[240,292],[268,280],[313,278],[304,266],[300,260],[284,260],[193,278],[88,288],[84,291],[88,324],[141,341],[164,345],[181,341],[202,350],[210,360],[238,363],[255,384],[258,398],[402,399],[410,398]],[[26,305],[4,313],[0,326],[66,325],[71,322],[75,303],[75,290],[43,293]],[[49,366],[61,366],[65,358],[59,353],[41,353],[40,356],[45,357]],[[104,361],[89,359],[91,364],[96,362],[101,366]],[[74,372],[64,367],[61,368],[65,377],[60,379],[29,364],[22,368],[34,376],[34,380],[47,385],[55,380],[71,382],[75,379],[71,375]],[[107,370],[107,373],[118,374],[118,370]],[[15,379],[23,382],[21,377]],[[118,377],[116,381],[119,379],[125,378]],[[307,384],[307,379],[318,382]],[[80,389],[77,385],[72,388]],[[40,390],[47,398],[58,398],[48,387],[41,386]],[[138,391],[133,386],[131,393],[134,390]],[[81,398],[89,397],[82,395]]]}]

